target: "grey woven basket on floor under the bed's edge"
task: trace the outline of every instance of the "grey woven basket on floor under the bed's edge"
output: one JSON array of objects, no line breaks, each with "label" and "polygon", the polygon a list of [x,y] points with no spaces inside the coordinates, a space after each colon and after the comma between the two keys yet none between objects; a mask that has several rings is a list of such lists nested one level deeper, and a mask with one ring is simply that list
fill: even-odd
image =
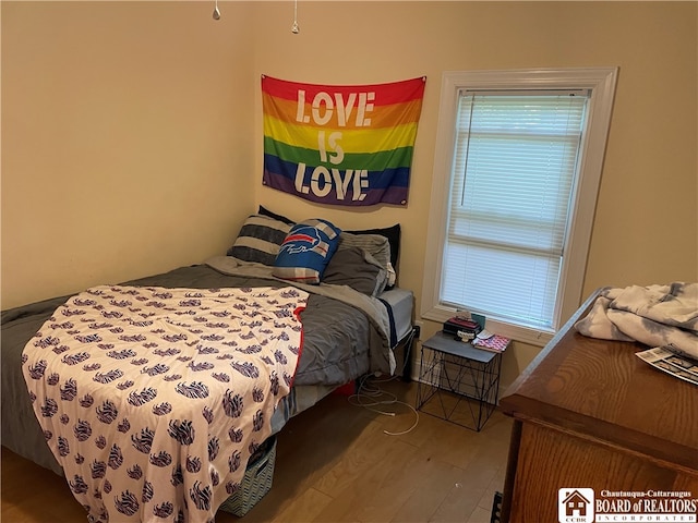
[{"label": "grey woven basket on floor under the bed's edge", "polygon": [[220,510],[237,516],[246,514],[272,488],[275,461],[276,437],[272,436],[262,443],[261,452],[252,457],[240,488],[222,502]]}]

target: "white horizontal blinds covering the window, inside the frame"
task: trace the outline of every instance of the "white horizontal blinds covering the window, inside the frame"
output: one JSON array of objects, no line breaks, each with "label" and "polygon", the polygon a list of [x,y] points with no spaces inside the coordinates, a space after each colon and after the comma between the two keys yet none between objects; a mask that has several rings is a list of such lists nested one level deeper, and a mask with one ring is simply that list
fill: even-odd
[{"label": "white horizontal blinds covering the window, inside the frame", "polygon": [[441,302],[550,327],[586,92],[461,92]]}]

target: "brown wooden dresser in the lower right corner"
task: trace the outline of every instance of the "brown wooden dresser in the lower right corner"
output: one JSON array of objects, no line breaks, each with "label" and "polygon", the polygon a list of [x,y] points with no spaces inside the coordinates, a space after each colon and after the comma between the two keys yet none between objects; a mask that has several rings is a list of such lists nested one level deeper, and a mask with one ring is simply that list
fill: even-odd
[{"label": "brown wooden dresser in the lower right corner", "polygon": [[559,489],[689,491],[698,501],[698,387],[635,356],[646,345],[577,333],[594,299],[500,400],[515,419],[502,522],[558,522]]}]

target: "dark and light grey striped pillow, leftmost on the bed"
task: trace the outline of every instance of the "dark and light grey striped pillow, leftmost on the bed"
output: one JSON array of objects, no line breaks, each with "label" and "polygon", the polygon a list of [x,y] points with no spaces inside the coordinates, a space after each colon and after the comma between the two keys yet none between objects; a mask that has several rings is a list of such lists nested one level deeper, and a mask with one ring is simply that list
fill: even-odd
[{"label": "dark and light grey striped pillow, leftmost on the bed", "polygon": [[242,262],[274,266],[279,247],[290,230],[288,223],[252,215],[244,220],[234,244],[226,254]]}]

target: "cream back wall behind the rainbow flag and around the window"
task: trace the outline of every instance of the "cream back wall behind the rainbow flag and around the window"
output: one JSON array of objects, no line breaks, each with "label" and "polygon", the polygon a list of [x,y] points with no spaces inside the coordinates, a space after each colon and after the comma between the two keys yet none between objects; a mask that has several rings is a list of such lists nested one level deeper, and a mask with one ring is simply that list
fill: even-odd
[{"label": "cream back wall behind the rainbow flag and around the window", "polygon": [[[289,2],[290,3],[290,2]],[[698,3],[287,2],[256,13],[256,76],[376,83],[426,75],[407,208],[321,208],[255,185],[265,205],[340,227],[402,224],[400,284],[421,296],[443,71],[619,66],[583,296],[604,285],[698,280]],[[261,112],[258,89],[256,112]],[[256,147],[262,149],[261,127]],[[261,170],[261,153],[255,157]],[[344,226],[346,227],[346,226]],[[423,336],[440,329],[426,323]],[[508,384],[540,348],[514,343]]]}]

